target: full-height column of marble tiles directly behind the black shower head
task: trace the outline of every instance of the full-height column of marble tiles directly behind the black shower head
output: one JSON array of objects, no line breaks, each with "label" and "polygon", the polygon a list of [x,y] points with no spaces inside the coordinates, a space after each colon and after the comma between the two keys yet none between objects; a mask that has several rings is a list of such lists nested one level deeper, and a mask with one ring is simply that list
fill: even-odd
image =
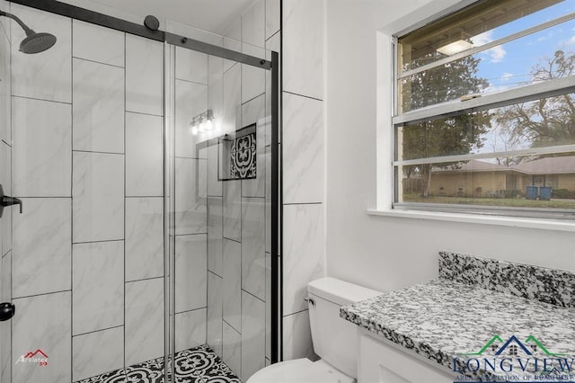
[{"label": "full-height column of marble tiles directly behind the black shower head", "polygon": [[[8,362],[12,371],[4,379],[71,381],[72,22],[17,4],[11,4],[10,12],[58,40],[37,55],[23,55],[18,44],[10,52],[12,133],[3,139],[12,146],[13,184],[3,184],[4,191],[22,199],[23,209],[22,214],[6,209],[2,218],[3,225],[4,218],[12,218],[13,239],[12,251],[4,255],[11,256],[12,268],[12,291],[5,300],[16,306]],[[7,25],[13,40],[22,40],[20,26]],[[14,364],[38,349],[49,355],[46,369]]]}]

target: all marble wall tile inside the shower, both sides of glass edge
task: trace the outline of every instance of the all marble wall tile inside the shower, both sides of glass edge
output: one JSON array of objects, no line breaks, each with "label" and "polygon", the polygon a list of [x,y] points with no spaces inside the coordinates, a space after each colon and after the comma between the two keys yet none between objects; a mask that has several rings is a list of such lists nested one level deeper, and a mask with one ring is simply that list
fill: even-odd
[{"label": "all marble wall tile inside the shower, both sides of glass edge", "polygon": [[[279,50],[279,3],[256,1],[222,43],[261,57]],[[0,25],[0,49],[11,52],[0,107],[13,116],[0,129],[0,181],[25,206],[3,218],[0,264],[13,283],[3,278],[1,294],[27,313],[13,321],[13,357],[51,352],[40,372],[10,369],[4,352],[3,375],[71,381],[161,356],[163,44],[11,10],[58,40],[24,56],[10,45],[22,30]],[[176,77],[176,348],[208,342],[247,379],[270,359],[270,76],[177,49]],[[188,122],[208,107],[220,131],[258,124],[257,179],[218,182],[217,153],[194,149]],[[40,312],[45,323],[27,332]]]}]

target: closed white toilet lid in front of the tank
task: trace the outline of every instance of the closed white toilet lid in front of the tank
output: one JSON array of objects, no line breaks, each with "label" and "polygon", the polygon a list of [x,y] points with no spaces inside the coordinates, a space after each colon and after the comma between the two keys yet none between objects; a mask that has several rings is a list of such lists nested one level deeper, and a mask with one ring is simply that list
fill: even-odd
[{"label": "closed white toilet lid in front of the tank", "polygon": [[351,383],[355,379],[323,361],[282,361],[259,370],[247,383]]}]

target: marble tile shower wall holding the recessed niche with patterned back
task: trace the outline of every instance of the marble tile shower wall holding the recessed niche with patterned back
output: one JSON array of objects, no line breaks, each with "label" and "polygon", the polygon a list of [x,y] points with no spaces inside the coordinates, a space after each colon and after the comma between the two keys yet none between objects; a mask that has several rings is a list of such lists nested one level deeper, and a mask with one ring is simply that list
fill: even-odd
[{"label": "marble tile shower wall holding the recessed niche with patterned back", "polygon": [[[214,42],[266,57],[266,49],[280,50],[279,40],[279,0],[257,0],[223,40]],[[207,72],[193,80],[184,69],[178,69],[185,62],[181,56],[196,60],[192,68],[205,64],[197,62],[198,55],[190,57],[183,50],[176,50],[176,99],[179,86],[188,88],[182,94],[198,94],[198,83],[207,80],[208,87],[200,91],[199,111],[207,105],[214,112],[218,134],[257,124],[256,179],[218,182],[216,146],[200,151],[197,159],[207,165],[207,343],[245,381],[270,363],[271,76],[258,68],[210,56]],[[198,70],[193,73],[198,76]],[[195,84],[180,83],[186,79]],[[187,122],[192,116],[186,117],[180,127],[176,116],[179,129],[189,129]],[[177,192],[176,186],[176,199]]]}]

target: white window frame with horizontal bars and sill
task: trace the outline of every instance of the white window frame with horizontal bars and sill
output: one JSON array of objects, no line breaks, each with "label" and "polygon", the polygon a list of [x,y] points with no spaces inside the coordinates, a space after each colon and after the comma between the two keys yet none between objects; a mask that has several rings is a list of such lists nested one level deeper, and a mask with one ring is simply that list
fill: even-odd
[{"label": "white window frame with horizontal bars and sill", "polygon": [[[394,125],[400,122],[415,121],[425,119],[430,116],[437,116],[441,114],[448,114],[454,111],[481,111],[497,106],[503,106],[515,102],[534,100],[545,94],[553,96],[553,94],[564,93],[565,90],[573,90],[575,92],[575,78],[557,79],[561,81],[561,85],[556,80],[550,80],[544,83],[527,85],[520,88],[515,88],[500,93],[483,94],[482,97],[473,98],[462,103],[457,100],[454,102],[444,102],[442,104],[432,105],[427,108],[421,108],[414,111],[408,111],[400,116],[395,116],[396,100],[395,89],[396,80],[398,79],[395,65],[395,44],[394,36],[403,36],[404,34],[414,31],[421,26],[436,21],[447,14],[454,13],[470,4],[475,3],[476,0],[444,0],[432,1],[424,4],[413,12],[401,17],[400,19],[392,22],[379,31],[377,31],[377,195],[376,195],[376,208],[367,209],[367,214],[376,216],[398,217],[398,218],[417,218],[417,219],[431,219],[452,222],[465,222],[476,224],[488,224],[507,227],[531,227],[543,228],[560,231],[575,232],[575,222],[571,219],[557,219],[557,218],[533,218],[533,217],[517,217],[509,214],[506,209],[491,209],[489,207],[484,210],[482,214],[477,214],[478,211],[469,212],[457,205],[455,207],[448,207],[441,204],[433,204],[434,206],[420,206],[417,208],[408,204],[402,206],[401,209],[394,209],[394,166],[399,165],[399,162],[394,161]],[[539,31],[541,29],[552,26],[553,24],[564,22],[575,18],[575,13],[563,16],[561,19],[556,19],[552,22],[544,22],[540,25],[522,31],[521,35],[526,35],[530,32]],[[405,26],[409,27],[406,28]],[[513,34],[506,38],[492,41],[489,44],[483,45],[473,49],[481,51],[490,49],[495,45],[514,40],[521,36]],[[465,52],[466,56],[469,52]],[[455,57],[455,58],[454,58]],[[457,55],[453,57],[444,58],[446,62],[457,59]],[[432,66],[436,66],[433,63]],[[425,70],[426,67],[417,68],[417,71]],[[413,74],[409,71],[403,73],[403,76]],[[392,92],[390,92],[392,90]],[[535,96],[536,95],[536,96]],[[562,151],[575,151],[575,145],[568,145],[563,147],[553,147],[553,153]],[[508,152],[509,153],[509,152]],[[541,154],[545,150],[540,149],[525,149],[513,152],[511,154]],[[472,155],[474,158],[485,158],[497,156],[498,153]],[[467,157],[467,156],[465,156]],[[453,160],[454,157],[449,157]],[[429,158],[430,162],[440,162],[443,160],[441,157]],[[419,161],[418,163],[420,163]],[[401,162],[402,165],[409,165],[409,161]],[[421,204],[419,204],[421,205]],[[431,204],[429,204],[431,205]],[[439,209],[438,209],[439,208]]]}]

